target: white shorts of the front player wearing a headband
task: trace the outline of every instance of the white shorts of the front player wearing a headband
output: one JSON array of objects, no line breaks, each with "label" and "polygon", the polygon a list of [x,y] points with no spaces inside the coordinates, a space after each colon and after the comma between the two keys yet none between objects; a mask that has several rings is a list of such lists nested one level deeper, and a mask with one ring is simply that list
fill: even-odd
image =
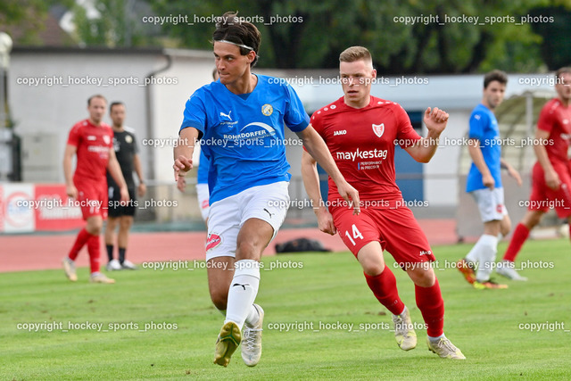
[{"label": "white shorts of the front player wearing a headband", "polygon": [[211,204],[206,240],[206,261],[216,257],[236,257],[240,228],[248,219],[262,219],[277,230],[284,223],[289,206],[288,182],[253,186]]}]

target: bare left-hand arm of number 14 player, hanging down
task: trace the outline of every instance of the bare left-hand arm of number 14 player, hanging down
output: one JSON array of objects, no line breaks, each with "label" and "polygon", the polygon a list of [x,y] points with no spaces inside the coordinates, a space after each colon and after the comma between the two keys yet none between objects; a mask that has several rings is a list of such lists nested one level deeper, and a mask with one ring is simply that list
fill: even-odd
[{"label": "bare left-hand arm of number 14 player, hanging down", "polygon": [[319,190],[319,174],[317,162],[313,157],[303,151],[302,153],[302,178],[305,191],[310,196],[313,211],[318,218],[319,230],[324,233],[335,235],[337,229],[333,223],[333,216],[327,210],[326,204],[321,199],[321,192]]}]

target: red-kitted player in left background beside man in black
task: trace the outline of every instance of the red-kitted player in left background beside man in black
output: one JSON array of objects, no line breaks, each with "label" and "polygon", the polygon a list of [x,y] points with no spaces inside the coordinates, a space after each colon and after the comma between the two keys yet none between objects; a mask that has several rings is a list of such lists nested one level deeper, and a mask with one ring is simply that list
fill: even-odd
[{"label": "red-kitted player in left background beside man in black", "polygon": [[[91,277],[94,283],[115,283],[99,271],[99,234],[103,228],[103,219],[107,218],[107,177],[109,170],[115,182],[120,186],[120,202],[128,202],[128,190],[121,174],[119,162],[113,150],[112,128],[103,123],[107,101],[103,95],[93,95],[87,100],[89,118],[81,120],[71,128],[70,137],[63,154],[63,173],[67,194],[81,207],[86,227],[81,229],[71,247],[70,253],[63,259],[63,269],[70,281],[78,276],[75,259],[81,248],[87,244]],[[71,177],[71,162],[77,155],[77,165]]]}]

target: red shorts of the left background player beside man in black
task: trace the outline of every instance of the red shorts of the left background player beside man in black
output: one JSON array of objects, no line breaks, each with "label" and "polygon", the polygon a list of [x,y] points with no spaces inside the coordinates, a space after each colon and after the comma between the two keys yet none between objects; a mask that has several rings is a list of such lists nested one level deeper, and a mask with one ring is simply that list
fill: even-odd
[{"label": "red shorts of the left background player beside man in black", "polygon": [[93,216],[101,216],[103,219],[107,219],[107,179],[105,178],[104,181],[100,182],[74,179],[73,183],[78,189],[78,199],[74,203],[81,208],[83,219]]}]

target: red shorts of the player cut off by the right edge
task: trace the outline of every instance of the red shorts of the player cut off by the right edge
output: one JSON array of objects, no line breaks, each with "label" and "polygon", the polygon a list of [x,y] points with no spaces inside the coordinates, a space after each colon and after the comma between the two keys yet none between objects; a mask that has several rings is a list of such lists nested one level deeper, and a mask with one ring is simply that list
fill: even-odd
[{"label": "red shorts of the player cut off by the right edge", "polygon": [[529,196],[529,211],[557,211],[560,219],[571,216],[571,169],[567,163],[551,163],[561,185],[553,190],[545,184],[542,165],[536,162],[532,171],[532,193]]}]

